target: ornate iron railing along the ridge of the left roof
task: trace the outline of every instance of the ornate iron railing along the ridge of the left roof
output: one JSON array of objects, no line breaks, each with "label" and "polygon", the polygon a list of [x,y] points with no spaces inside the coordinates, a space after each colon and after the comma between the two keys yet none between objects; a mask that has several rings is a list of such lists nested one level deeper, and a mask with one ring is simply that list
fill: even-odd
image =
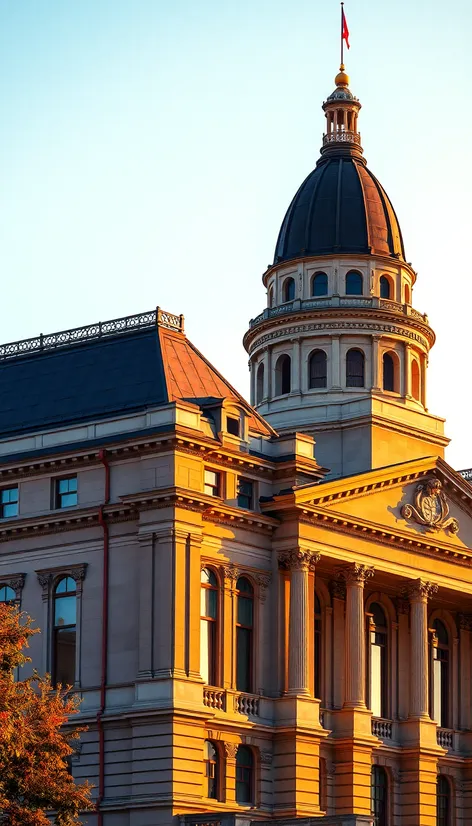
[{"label": "ornate iron railing along the ridge of the left roof", "polygon": [[156,310],[151,310],[148,313],[114,318],[111,321],[99,321],[96,324],[75,327],[72,330],[62,330],[59,333],[48,333],[47,335],[41,333],[41,335],[34,338],[24,338],[21,341],[0,344],[0,360],[18,358],[29,353],[40,353],[45,350],[57,350],[82,341],[93,341],[94,339],[129,333],[131,330],[154,327],[156,324],[159,327],[183,332],[184,317],[183,315],[173,315],[157,307]]}]

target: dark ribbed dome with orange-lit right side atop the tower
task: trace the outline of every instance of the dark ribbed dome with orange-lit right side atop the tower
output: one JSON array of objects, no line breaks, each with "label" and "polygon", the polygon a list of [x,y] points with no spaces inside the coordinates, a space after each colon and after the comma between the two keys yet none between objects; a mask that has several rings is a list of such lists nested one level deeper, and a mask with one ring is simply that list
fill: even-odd
[{"label": "dark ribbed dome with orange-lit right side atop the tower", "polygon": [[336,253],[405,259],[395,211],[362,158],[323,157],[302,183],[280,228],[274,264]]}]

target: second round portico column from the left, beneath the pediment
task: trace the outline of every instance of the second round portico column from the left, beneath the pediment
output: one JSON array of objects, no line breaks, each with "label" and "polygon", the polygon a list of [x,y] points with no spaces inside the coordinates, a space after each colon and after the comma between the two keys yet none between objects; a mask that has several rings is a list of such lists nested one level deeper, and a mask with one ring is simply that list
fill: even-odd
[{"label": "second round portico column from the left, beneath the pediment", "polygon": [[346,690],[344,708],[365,708],[364,584],[374,575],[366,565],[340,572],[346,582]]}]

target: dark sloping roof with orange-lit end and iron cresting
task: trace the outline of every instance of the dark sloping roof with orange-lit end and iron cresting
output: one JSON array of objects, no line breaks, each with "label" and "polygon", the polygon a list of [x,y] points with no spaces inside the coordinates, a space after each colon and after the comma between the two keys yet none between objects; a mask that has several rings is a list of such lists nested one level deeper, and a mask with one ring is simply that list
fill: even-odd
[{"label": "dark sloping roof with orange-lit end and iron cresting", "polygon": [[159,309],[0,346],[0,438],[145,411],[179,399],[231,398],[250,430],[272,428]]}]

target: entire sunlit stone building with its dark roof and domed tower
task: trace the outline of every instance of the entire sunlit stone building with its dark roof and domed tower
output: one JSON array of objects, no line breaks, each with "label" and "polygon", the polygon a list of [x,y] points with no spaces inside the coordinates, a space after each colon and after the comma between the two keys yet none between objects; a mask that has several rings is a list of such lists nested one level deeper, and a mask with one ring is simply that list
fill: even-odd
[{"label": "entire sunlit stone building with its dark roof and domed tower", "polygon": [[82,697],[91,826],[472,822],[472,487],[343,70],[323,109],[253,406],[159,309],[0,348],[0,599]]}]

